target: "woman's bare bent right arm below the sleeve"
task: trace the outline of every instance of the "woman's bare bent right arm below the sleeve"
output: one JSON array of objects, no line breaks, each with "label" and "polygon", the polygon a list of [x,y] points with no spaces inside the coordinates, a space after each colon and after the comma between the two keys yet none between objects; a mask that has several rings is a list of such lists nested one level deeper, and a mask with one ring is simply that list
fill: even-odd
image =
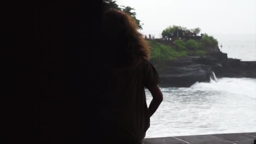
[{"label": "woman's bare bent right arm below the sleeve", "polygon": [[151,117],[155,113],[161,102],[163,101],[163,94],[158,85],[151,86],[148,89],[153,97],[148,108],[149,117]]}]

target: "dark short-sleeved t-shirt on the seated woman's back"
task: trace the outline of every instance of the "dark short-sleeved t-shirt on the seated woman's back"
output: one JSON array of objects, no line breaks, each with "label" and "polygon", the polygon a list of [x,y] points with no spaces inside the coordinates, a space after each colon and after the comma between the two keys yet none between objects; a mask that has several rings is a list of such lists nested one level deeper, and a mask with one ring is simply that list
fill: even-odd
[{"label": "dark short-sleeved t-shirt on the seated woman's back", "polygon": [[144,138],[150,125],[144,87],[159,83],[157,71],[146,60],[136,67],[110,70],[106,94],[100,98],[102,133],[107,139],[140,141]]}]

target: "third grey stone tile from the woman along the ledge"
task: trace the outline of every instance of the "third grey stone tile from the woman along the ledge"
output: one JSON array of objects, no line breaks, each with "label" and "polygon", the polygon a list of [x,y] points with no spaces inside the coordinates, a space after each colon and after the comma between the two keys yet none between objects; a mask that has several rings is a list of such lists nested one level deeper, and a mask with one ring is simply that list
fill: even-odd
[{"label": "third grey stone tile from the woman along the ledge", "polygon": [[[249,134],[249,133],[248,133]],[[235,144],[251,144],[256,137],[249,136],[245,133],[224,133],[224,134],[213,134],[220,139],[231,141]]]}]

